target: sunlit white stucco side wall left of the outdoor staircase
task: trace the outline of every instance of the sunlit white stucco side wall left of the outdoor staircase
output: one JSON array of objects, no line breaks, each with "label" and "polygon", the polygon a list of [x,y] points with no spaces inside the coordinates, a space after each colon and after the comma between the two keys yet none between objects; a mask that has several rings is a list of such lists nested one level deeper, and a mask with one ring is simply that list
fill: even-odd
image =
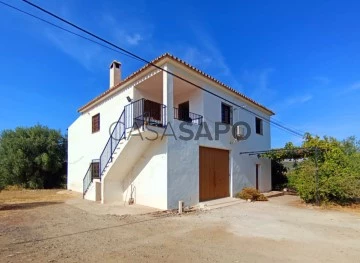
[{"label": "sunlit white stucco side wall left of the outdoor staircase", "polygon": [[[120,117],[124,106],[133,97],[133,88],[119,91],[111,98],[82,113],[68,129],[68,181],[69,190],[83,191],[83,178],[92,159],[99,159],[110,137],[111,124]],[[92,116],[100,113],[100,131],[92,133]]]}]

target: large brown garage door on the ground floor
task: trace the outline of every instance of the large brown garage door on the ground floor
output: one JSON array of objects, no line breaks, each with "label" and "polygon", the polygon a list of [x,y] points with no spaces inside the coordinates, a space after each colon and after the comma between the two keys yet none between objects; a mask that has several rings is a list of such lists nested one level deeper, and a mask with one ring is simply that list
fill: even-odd
[{"label": "large brown garage door on the ground floor", "polygon": [[229,196],[229,151],[200,147],[200,201]]}]

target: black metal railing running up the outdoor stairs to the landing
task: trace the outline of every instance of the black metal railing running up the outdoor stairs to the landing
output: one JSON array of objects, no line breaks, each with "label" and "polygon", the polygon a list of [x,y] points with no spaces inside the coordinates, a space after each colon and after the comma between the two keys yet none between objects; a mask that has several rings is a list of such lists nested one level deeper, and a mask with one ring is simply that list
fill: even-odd
[{"label": "black metal railing running up the outdoor stairs to the landing", "polygon": [[[98,161],[98,177],[101,179],[106,166],[112,162],[116,148],[121,140],[126,139],[126,130],[141,128],[146,125],[164,127],[166,125],[166,106],[151,100],[139,99],[124,107],[117,122],[113,123],[111,135],[107,140]],[[83,179],[83,194],[88,190],[92,179],[92,164]]]}]

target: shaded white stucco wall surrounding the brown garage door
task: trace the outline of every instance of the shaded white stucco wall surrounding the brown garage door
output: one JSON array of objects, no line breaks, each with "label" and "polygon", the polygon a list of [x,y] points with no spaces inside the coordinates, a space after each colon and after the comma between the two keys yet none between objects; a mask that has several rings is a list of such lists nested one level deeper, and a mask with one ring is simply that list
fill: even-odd
[{"label": "shaded white stucco wall surrounding the brown garage door", "polygon": [[[184,71],[185,78],[188,76]],[[259,190],[271,190],[271,162],[267,159],[259,159],[257,156],[240,155],[240,152],[257,151],[270,149],[270,125],[269,116],[256,109],[250,103],[237,99],[227,92],[219,91],[209,83],[198,80],[202,87],[214,92],[227,100],[241,106],[245,106],[263,119],[263,135],[255,132],[255,115],[242,108],[237,108],[233,112],[233,123],[237,121],[247,122],[251,127],[251,135],[245,141],[234,142],[231,133],[220,135],[219,140],[208,140],[200,138],[197,141],[176,140],[168,137],[168,208],[176,208],[179,200],[183,200],[185,205],[195,205],[199,202],[199,146],[226,149],[230,151],[229,171],[230,185],[229,192],[234,196],[246,186],[255,187],[256,185],[256,164],[260,164],[259,171]],[[188,96],[188,97],[187,97]],[[221,103],[227,103],[209,93],[201,90],[183,94],[179,98],[174,98],[177,105],[189,100],[190,111],[204,116],[211,134],[215,135],[215,122],[221,121]],[[234,107],[235,108],[235,107]],[[179,131],[180,121],[175,120],[172,124],[175,134]],[[199,126],[193,125],[191,129],[196,133]],[[188,128],[188,127],[187,127]],[[187,136],[186,134],[184,136]]]}]

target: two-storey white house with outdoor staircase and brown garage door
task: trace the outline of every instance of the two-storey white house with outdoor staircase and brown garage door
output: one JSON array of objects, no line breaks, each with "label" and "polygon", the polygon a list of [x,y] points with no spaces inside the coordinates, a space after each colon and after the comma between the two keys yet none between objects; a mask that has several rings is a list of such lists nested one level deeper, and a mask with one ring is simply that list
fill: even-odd
[{"label": "two-storey white house with outdoor staircase and brown garage door", "polygon": [[270,149],[274,113],[168,53],[152,63],[187,81],[151,64],[122,79],[114,61],[110,88],[68,129],[68,189],[160,209],[271,190],[270,160],[240,152]]}]

